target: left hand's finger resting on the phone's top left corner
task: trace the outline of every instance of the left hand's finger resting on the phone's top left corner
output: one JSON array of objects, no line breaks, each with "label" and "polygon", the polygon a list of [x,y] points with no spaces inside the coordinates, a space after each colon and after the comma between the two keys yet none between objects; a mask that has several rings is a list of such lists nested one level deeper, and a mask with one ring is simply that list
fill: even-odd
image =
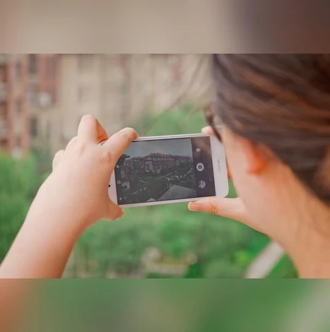
[{"label": "left hand's finger resting on the phone's top left corner", "polygon": [[137,139],[137,132],[133,128],[124,128],[113,134],[102,146],[110,150],[112,157],[117,161],[135,139]]}]

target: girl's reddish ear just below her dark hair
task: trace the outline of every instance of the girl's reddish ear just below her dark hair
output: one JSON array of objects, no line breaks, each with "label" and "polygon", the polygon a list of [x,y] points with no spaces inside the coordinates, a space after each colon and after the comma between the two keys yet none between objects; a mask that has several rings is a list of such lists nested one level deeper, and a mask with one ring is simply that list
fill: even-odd
[{"label": "girl's reddish ear just below her dark hair", "polygon": [[256,145],[255,143],[244,139],[242,137],[237,138],[237,143],[239,144],[246,162],[246,171],[249,174],[260,174],[264,171],[267,166],[267,151],[261,145]]}]

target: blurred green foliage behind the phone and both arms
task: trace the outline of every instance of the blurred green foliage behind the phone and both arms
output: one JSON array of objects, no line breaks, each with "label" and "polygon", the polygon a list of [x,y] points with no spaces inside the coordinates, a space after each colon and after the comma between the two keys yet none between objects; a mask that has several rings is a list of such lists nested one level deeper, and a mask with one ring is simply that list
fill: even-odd
[{"label": "blurred green foliage behind the phone and both arms", "polygon": [[[200,132],[198,104],[144,114],[133,126],[140,136]],[[27,159],[0,155],[0,260],[19,230],[38,186],[50,172],[50,154]],[[235,196],[230,183],[230,197]],[[47,221],[45,221],[47,222]],[[218,216],[189,212],[186,203],[127,208],[123,219],[89,228],[66,268],[67,278],[240,278],[269,239]],[[284,256],[267,276],[295,278]]]}]

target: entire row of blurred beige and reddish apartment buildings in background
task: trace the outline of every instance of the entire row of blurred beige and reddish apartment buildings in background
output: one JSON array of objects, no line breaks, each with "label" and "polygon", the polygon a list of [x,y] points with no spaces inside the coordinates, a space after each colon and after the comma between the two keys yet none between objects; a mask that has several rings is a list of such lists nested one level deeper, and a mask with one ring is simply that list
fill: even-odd
[{"label": "entire row of blurred beige and reddish apartment buildings in background", "polygon": [[206,99],[208,63],[194,54],[0,54],[0,148],[51,153],[84,114],[110,134],[148,112]]}]

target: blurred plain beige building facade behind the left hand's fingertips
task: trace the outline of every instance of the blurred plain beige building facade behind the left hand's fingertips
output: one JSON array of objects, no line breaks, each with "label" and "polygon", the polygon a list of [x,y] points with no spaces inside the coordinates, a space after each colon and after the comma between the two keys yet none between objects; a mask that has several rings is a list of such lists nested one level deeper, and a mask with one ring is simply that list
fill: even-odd
[{"label": "blurred plain beige building facade behind the left hand's fingertips", "polygon": [[93,114],[110,134],[139,116],[207,99],[209,63],[195,54],[63,54],[59,60],[60,145]]}]

